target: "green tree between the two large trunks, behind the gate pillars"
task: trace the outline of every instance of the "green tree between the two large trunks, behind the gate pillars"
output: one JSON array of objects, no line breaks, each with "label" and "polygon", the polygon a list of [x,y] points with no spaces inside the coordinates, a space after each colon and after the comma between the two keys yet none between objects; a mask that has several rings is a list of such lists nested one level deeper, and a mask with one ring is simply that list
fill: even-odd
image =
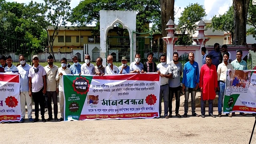
[{"label": "green tree between the two large trunks, behind the gate pillars", "polygon": [[181,35],[179,36],[179,39],[177,41],[179,44],[192,44],[192,37],[189,36],[188,38],[187,34],[195,30],[195,23],[202,20],[204,16],[206,16],[204,7],[198,3],[189,4],[189,6],[184,8],[179,18],[179,24],[177,28],[177,30],[181,32]]}]

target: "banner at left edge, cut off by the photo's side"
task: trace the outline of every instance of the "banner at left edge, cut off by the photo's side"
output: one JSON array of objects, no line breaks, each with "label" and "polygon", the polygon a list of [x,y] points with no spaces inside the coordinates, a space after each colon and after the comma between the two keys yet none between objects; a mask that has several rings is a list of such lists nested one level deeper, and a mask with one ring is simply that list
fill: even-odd
[{"label": "banner at left edge, cut off by the photo's side", "polygon": [[0,122],[20,121],[20,75],[0,73]]}]

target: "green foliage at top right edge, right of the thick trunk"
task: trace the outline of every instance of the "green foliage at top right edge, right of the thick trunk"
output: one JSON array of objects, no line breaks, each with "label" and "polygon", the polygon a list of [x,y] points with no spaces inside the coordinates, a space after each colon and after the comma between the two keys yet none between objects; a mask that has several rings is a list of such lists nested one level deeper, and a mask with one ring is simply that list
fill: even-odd
[{"label": "green foliage at top right edge, right of the thick trunk", "polygon": [[252,2],[249,4],[247,24],[252,26],[247,30],[247,34],[252,34],[256,40],[256,6],[252,5]]}]

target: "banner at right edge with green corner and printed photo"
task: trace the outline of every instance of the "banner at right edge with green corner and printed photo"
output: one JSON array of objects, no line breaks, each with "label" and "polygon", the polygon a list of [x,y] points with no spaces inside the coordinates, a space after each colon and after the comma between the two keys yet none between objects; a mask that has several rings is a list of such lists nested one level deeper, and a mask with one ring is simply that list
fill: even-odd
[{"label": "banner at right edge with green corner and printed photo", "polygon": [[223,112],[256,113],[256,71],[228,70]]}]

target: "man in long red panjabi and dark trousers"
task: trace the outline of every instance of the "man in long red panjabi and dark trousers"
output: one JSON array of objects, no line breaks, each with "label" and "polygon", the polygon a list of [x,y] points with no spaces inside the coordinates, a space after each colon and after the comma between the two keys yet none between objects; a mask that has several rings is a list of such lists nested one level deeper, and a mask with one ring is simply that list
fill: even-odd
[{"label": "man in long red panjabi and dark trousers", "polygon": [[206,56],[206,64],[204,64],[200,71],[199,87],[202,91],[201,97],[201,117],[205,115],[206,100],[209,103],[209,116],[216,118],[213,113],[213,100],[216,97],[216,90],[218,87],[216,67],[212,64],[210,55]]}]

